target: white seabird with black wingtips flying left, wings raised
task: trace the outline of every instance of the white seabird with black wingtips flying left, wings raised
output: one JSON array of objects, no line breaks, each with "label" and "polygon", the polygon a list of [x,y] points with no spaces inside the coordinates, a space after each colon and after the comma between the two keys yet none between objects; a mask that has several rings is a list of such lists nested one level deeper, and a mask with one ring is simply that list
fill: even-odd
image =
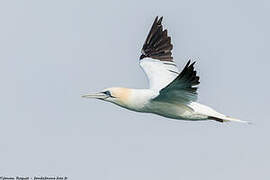
[{"label": "white seabird with black wingtips flying left, wings raised", "polygon": [[112,87],[84,98],[96,98],[123,108],[154,113],[178,120],[215,120],[218,122],[246,122],[223,115],[197,101],[199,76],[190,60],[180,72],[172,57],[173,45],[167,29],[156,17],[147,35],[139,58],[148,77],[148,89]]}]

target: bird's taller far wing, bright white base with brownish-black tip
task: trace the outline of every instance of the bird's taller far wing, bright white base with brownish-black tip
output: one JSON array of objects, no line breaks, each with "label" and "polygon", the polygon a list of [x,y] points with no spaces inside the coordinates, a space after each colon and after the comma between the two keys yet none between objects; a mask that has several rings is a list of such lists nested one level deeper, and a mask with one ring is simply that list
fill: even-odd
[{"label": "bird's taller far wing, bright white base with brownish-black tip", "polygon": [[148,77],[150,89],[160,90],[172,82],[179,70],[172,58],[171,37],[163,30],[162,17],[156,17],[145,40],[140,66]]}]

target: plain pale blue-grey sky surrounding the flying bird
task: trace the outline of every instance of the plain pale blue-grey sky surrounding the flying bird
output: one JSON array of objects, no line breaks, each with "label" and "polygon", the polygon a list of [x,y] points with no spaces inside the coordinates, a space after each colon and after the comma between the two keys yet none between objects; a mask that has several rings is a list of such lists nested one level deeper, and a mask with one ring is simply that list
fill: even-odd
[{"label": "plain pale blue-grey sky surrounding the flying bird", "polygon": [[[146,88],[155,16],[199,102],[254,125],[187,122],[81,98]],[[0,1],[0,176],[106,180],[270,178],[267,0]]]}]

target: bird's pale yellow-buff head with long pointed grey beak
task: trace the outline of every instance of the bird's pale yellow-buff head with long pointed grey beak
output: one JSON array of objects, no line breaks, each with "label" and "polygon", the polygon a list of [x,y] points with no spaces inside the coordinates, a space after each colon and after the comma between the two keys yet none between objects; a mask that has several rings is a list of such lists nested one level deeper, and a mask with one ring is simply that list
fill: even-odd
[{"label": "bird's pale yellow-buff head with long pointed grey beak", "polygon": [[100,99],[108,102],[112,102],[121,106],[125,106],[128,103],[130,96],[130,89],[112,87],[102,90],[98,93],[83,95],[83,98],[94,98]]}]

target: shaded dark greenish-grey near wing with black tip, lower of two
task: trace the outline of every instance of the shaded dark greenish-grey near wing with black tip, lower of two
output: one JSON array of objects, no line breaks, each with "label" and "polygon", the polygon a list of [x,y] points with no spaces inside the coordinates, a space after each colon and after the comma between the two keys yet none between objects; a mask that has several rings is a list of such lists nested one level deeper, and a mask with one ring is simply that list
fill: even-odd
[{"label": "shaded dark greenish-grey near wing with black tip, lower of two", "polygon": [[165,88],[161,89],[154,101],[165,101],[175,103],[189,103],[197,100],[197,85],[200,84],[199,76],[194,70],[194,64],[190,61],[183,71]]}]

